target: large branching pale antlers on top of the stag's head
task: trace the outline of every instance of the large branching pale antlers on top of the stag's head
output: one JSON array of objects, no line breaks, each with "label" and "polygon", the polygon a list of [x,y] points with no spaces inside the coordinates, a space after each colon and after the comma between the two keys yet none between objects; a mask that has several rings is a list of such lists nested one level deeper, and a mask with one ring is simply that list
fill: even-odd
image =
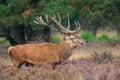
[{"label": "large branching pale antlers on top of the stag's head", "polygon": [[[36,24],[40,24],[40,25],[50,27],[51,29],[53,29],[55,31],[60,31],[63,34],[75,34],[75,33],[78,33],[80,31],[81,25],[80,25],[79,21],[74,21],[76,28],[74,30],[70,30],[69,14],[67,14],[67,17],[68,17],[68,26],[67,26],[67,28],[63,27],[63,25],[61,24],[61,17],[59,15],[59,13],[58,13],[57,16],[58,16],[58,20],[56,20],[55,15],[48,16],[46,14],[46,17],[45,17],[46,22],[42,19],[42,16],[37,17],[36,20],[34,20],[34,22]],[[58,28],[55,28],[54,25],[50,24],[48,18],[50,18],[52,21],[54,21],[54,23],[58,26]]]}]

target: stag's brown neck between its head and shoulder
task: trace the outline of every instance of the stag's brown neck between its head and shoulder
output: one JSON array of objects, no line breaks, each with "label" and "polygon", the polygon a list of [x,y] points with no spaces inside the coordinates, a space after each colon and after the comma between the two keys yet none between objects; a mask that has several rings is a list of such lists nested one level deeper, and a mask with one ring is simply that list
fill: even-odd
[{"label": "stag's brown neck between its head and shoulder", "polygon": [[73,48],[68,44],[65,40],[61,41],[59,44],[59,56],[61,61],[68,59],[68,57],[72,54]]}]

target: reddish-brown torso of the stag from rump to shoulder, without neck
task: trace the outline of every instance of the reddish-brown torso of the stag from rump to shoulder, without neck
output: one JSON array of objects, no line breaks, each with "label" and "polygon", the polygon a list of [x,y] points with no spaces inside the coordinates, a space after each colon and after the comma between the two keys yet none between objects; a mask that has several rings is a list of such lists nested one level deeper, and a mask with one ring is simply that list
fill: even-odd
[{"label": "reddish-brown torso of the stag from rump to shoulder, without neck", "polygon": [[26,44],[10,47],[8,53],[13,65],[20,66],[23,62],[31,64],[54,64],[60,62],[58,49],[55,44]]}]

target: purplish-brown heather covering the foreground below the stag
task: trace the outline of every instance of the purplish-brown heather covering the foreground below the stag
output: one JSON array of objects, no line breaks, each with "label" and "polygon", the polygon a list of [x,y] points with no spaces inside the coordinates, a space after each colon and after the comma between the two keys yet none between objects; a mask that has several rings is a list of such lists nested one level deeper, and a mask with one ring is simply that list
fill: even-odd
[{"label": "purplish-brown heather covering the foreground below the stag", "polygon": [[[95,58],[95,56],[97,58]],[[1,80],[119,80],[120,61],[113,61],[109,53],[95,54],[90,58],[65,61],[56,69],[48,67],[26,67],[19,70],[9,68],[0,73]],[[103,58],[104,59],[103,62]],[[98,63],[100,62],[100,63]],[[0,65],[4,65],[3,62]],[[0,67],[2,68],[2,67]],[[2,70],[2,69],[1,69]]]}]

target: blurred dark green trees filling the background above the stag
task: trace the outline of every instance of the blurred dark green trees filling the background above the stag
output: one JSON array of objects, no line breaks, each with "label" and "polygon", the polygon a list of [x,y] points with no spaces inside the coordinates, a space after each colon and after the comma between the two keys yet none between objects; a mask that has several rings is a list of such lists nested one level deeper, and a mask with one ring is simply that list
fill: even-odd
[{"label": "blurred dark green trees filling the background above the stag", "polygon": [[114,25],[119,32],[119,5],[119,0],[0,0],[0,31],[5,32],[12,44],[15,42],[13,45],[26,43],[36,36],[49,41],[50,29],[33,21],[36,16],[59,12],[63,25],[69,13],[72,26],[73,20],[79,20],[82,27],[93,34],[106,25]]}]

